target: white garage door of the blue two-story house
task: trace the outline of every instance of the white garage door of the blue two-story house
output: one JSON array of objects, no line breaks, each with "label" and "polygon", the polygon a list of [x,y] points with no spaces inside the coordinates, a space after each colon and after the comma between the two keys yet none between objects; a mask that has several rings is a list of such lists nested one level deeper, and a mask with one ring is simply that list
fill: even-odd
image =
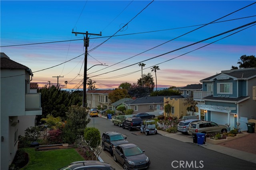
[{"label": "white garage door of the blue two-story house", "polygon": [[[228,123],[228,113],[222,113],[218,111],[211,111],[211,121],[220,125]],[[230,113],[230,129],[234,127],[234,115]]]}]

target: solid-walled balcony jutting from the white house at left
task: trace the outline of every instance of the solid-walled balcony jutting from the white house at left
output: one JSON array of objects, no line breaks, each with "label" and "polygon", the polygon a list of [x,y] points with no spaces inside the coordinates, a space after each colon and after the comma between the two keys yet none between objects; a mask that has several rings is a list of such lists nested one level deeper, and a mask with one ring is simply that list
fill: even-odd
[{"label": "solid-walled balcony jutting from the white house at left", "polygon": [[41,93],[27,93],[25,115],[42,115]]}]

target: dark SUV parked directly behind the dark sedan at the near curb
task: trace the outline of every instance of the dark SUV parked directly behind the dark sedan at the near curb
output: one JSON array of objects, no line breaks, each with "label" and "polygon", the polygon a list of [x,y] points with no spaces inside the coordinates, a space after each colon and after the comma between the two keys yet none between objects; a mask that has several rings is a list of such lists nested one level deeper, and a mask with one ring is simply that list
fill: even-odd
[{"label": "dark SUV parked directly behind the dark sedan at the near curb", "polygon": [[127,137],[116,131],[104,132],[101,137],[102,149],[108,150],[110,155],[113,156],[113,149],[116,145],[129,143],[125,140],[126,138]]}]

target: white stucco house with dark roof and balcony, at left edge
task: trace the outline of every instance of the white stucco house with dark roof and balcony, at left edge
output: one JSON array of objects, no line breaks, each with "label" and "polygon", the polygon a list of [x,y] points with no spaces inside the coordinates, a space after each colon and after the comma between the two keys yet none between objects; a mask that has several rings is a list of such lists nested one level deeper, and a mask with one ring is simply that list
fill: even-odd
[{"label": "white stucco house with dark roof and balcony, at left edge", "polygon": [[1,81],[1,170],[8,170],[18,149],[19,116],[42,115],[41,94],[30,93],[33,73],[27,66],[0,57]]}]

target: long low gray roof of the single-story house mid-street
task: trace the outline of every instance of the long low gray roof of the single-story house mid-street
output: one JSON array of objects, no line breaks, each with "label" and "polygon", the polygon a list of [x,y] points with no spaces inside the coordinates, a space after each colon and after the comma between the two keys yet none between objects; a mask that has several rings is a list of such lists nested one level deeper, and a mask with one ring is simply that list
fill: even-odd
[{"label": "long low gray roof of the single-story house mid-street", "polygon": [[183,96],[147,96],[124,102],[125,104],[164,104],[164,98],[184,98]]}]

